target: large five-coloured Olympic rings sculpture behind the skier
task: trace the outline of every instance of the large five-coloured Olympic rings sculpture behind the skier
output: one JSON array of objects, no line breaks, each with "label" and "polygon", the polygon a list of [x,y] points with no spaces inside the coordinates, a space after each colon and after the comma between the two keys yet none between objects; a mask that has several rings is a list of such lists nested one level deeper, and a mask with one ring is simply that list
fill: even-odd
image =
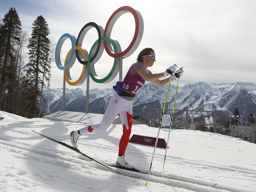
[{"label": "large five-coloured Olympic rings sculpture behind the skier", "polygon": [[[111,38],[111,32],[118,18],[120,18],[120,16],[122,16],[126,12],[130,12],[134,16],[135,32],[130,45],[124,51],[122,51],[119,42]],[[82,42],[86,33],[93,27],[96,28],[98,32],[98,39],[94,42],[88,54],[88,51],[82,47]],[[120,61],[118,60],[118,58],[127,58],[132,53],[134,53],[134,51],[138,48],[140,41],[142,39],[143,30],[144,30],[144,24],[143,24],[143,19],[140,12],[138,12],[137,10],[134,10],[129,6],[120,7],[108,19],[105,30],[103,30],[102,26],[94,22],[89,22],[86,25],[84,25],[83,28],[80,30],[77,39],[71,34],[68,34],[68,33],[63,34],[58,40],[58,43],[55,49],[56,65],[60,70],[64,70],[64,78],[66,82],[68,82],[68,84],[70,85],[78,86],[82,84],[87,78],[86,76],[87,70],[92,80],[94,80],[94,82],[98,82],[98,83],[111,82],[119,72]],[[70,39],[72,47],[69,50],[68,54],[66,55],[64,65],[62,65],[60,60],[60,51],[63,43],[67,39]],[[102,44],[102,41],[103,41],[103,44]],[[114,48],[114,50],[112,49],[112,47]],[[106,77],[99,78],[96,74],[94,64],[98,62],[98,60],[103,54],[104,49],[106,50],[107,54],[110,57],[114,58],[114,64],[109,74]],[[78,80],[72,81],[72,78],[70,77],[70,68],[72,68],[76,59],[84,66]]]}]

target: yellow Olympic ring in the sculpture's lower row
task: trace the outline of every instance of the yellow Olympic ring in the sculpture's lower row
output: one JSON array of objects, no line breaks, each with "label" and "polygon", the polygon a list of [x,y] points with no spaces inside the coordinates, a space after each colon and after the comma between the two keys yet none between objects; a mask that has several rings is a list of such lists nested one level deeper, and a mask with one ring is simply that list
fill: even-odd
[{"label": "yellow Olympic ring in the sculpture's lower row", "polygon": [[[74,46],[74,50],[78,50],[80,51],[80,53],[82,54],[82,58],[85,61],[86,60],[86,56],[85,56],[85,52],[86,50],[84,50],[82,47],[79,46]],[[78,78],[78,80],[76,80],[75,82],[72,81],[71,77],[70,77],[70,72],[69,72],[69,68],[66,68],[66,63],[68,62],[69,56],[72,53],[72,48],[69,50],[66,58],[65,58],[65,62],[64,62],[64,77],[66,82],[68,82],[68,84],[74,86],[74,85],[81,85],[85,80],[86,80],[86,75],[84,75],[84,73],[87,71],[86,65],[83,65],[83,70],[82,73],[80,75],[80,77]],[[70,78],[68,78],[70,77]]]}]

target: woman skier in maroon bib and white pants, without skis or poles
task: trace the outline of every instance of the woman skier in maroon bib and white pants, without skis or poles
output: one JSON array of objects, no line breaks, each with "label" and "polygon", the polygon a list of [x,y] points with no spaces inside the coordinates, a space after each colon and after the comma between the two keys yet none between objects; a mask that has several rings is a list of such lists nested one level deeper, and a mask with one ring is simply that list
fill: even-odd
[{"label": "woman skier in maroon bib and white pants, without skis or poles", "polygon": [[[176,77],[172,74],[176,71],[178,66],[170,66],[162,73],[152,74],[147,68],[153,66],[156,61],[155,52],[152,48],[144,48],[138,55],[137,62],[132,64],[127,72],[124,81],[120,86],[116,84],[116,92],[110,98],[106,112],[99,124],[90,124],[80,130],[72,131],[70,133],[71,143],[77,148],[77,140],[80,136],[87,133],[94,133],[106,131],[112,124],[118,113],[123,126],[123,134],[119,142],[118,158],[116,165],[124,166],[126,168],[134,168],[124,159],[125,150],[127,148],[130,134],[132,130],[132,101],[136,96],[138,90],[145,84],[145,81],[150,81],[157,86],[164,86]],[[169,78],[159,80],[159,78],[166,77],[170,74]]]}]

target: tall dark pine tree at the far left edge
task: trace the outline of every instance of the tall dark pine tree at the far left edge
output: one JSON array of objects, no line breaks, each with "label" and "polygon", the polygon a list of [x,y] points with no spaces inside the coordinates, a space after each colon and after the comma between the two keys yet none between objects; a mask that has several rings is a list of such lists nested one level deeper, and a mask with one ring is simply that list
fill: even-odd
[{"label": "tall dark pine tree at the far left edge", "polygon": [[[12,83],[15,79],[15,45],[20,41],[21,22],[15,8],[10,8],[9,12],[2,19],[3,25],[0,27],[0,110],[4,110],[5,98],[10,98]],[[5,96],[4,93],[7,92]]]}]

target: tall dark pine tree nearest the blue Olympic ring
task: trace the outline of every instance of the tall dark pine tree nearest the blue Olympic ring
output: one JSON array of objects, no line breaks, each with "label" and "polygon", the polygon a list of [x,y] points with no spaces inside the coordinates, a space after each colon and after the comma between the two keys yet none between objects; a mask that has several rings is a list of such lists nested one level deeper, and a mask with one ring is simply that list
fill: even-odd
[{"label": "tall dark pine tree nearest the blue Olympic ring", "polygon": [[26,64],[25,100],[28,118],[38,116],[38,100],[42,94],[39,86],[42,77],[50,70],[48,60],[50,30],[42,15],[33,22],[32,35],[29,39],[29,62]]}]

